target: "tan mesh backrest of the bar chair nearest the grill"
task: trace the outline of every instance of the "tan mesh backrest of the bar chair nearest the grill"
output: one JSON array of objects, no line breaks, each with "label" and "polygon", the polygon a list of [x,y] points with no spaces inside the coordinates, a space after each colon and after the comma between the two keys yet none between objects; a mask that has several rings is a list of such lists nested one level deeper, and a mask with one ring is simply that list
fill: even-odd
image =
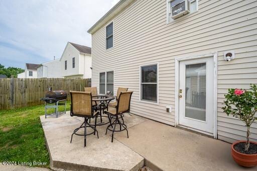
[{"label": "tan mesh backrest of the bar chair nearest the grill", "polygon": [[92,94],[91,92],[70,91],[71,114],[92,115]]}]

